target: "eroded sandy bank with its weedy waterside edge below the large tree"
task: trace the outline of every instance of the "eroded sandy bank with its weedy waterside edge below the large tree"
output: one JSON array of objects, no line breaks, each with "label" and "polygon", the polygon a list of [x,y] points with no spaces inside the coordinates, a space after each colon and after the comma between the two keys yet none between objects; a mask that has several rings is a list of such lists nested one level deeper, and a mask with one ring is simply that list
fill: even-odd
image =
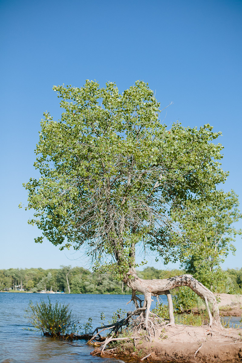
[{"label": "eroded sandy bank with its weedy waterside edge below the large tree", "polygon": [[[134,340],[122,341],[111,346],[116,349],[110,351],[110,347],[107,347],[103,356],[112,355],[133,362],[242,362],[242,338],[239,333],[242,333],[241,329],[167,326],[151,342],[137,335],[135,347]],[[94,351],[96,354],[98,348]],[[147,358],[141,360],[145,356]]]}]

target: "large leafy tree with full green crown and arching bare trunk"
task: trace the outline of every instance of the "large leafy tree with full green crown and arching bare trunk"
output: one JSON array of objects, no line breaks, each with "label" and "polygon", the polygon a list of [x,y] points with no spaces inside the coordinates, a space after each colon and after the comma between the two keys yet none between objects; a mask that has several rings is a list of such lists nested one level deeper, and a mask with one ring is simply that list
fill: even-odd
[{"label": "large leafy tree with full green crown and arching bare trunk", "polygon": [[[82,88],[53,89],[64,112],[58,122],[44,114],[34,163],[40,178],[24,184],[26,208],[35,210],[29,223],[42,231],[35,241],[86,247],[94,270],[109,270],[132,289],[147,331],[151,295],[167,294],[173,322],[169,289],[182,285],[207,307],[213,304],[210,325],[220,325],[214,295],[192,276],[142,280],[135,262],[138,245],[165,263],[208,248],[206,206],[222,198],[216,185],[227,176],[219,163],[222,146],[213,143],[220,132],[178,122],[168,129],[159,119],[160,103],[142,81],[122,94],[115,83],[100,88],[89,80]],[[136,290],[144,294],[143,305]]]}]

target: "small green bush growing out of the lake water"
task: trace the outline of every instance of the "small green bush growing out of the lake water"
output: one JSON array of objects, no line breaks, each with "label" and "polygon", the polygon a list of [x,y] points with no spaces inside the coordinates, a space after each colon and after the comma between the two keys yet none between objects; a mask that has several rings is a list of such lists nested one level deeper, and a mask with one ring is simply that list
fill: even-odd
[{"label": "small green bush growing out of the lake water", "polygon": [[[42,300],[40,303],[33,304],[30,300],[28,308],[25,309],[25,317],[29,323],[42,333],[50,334],[52,337],[61,337],[65,334],[75,332],[76,323],[69,305],[61,305],[58,302],[52,304]],[[33,329],[29,329],[33,330]]]}]

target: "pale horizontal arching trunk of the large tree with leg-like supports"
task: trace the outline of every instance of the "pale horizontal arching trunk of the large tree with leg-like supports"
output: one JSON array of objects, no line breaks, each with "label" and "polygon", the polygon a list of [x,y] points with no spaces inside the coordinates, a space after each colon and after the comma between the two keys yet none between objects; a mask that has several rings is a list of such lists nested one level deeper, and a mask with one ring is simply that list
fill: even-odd
[{"label": "pale horizontal arching trunk of the large tree with leg-like supports", "polygon": [[[175,287],[188,286],[205,301],[209,314],[209,326],[211,327],[212,325],[216,325],[217,327],[222,328],[216,297],[212,291],[202,285],[201,282],[198,282],[194,277],[192,277],[192,275],[186,274],[165,278],[162,280],[143,280],[137,276],[137,273],[134,269],[127,273],[123,281],[125,284],[127,284],[127,286],[131,287],[131,289],[134,291],[134,294],[135,291],[140,291],[142,294],[144,294],[143,309],[145,308],[146,322],[148,321],[151,307],[151,297],[165,294],[167,295],[168,299],[170,324],[174,325],[175,321],[173,315],[173,305],[169,290],[174,289]],[[132,296],[132,300],[134,300],[134,298],[135,297]],[[209,303],[212,313],[210,311]]]}]

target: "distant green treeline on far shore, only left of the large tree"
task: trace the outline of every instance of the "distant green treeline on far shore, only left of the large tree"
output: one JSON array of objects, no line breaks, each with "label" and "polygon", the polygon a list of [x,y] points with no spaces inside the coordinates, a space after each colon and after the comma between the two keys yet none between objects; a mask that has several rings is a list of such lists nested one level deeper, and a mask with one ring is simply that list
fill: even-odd
[{"label": "distant green treeline on far shore, only left of the large tree", "polygon": [[84,268],[61,266],[60,269],[31,268],[0,270],[0,290],[7,291],[65,291],[73,294],[130,293],[122,281],[111,274],[98,275]]}]

